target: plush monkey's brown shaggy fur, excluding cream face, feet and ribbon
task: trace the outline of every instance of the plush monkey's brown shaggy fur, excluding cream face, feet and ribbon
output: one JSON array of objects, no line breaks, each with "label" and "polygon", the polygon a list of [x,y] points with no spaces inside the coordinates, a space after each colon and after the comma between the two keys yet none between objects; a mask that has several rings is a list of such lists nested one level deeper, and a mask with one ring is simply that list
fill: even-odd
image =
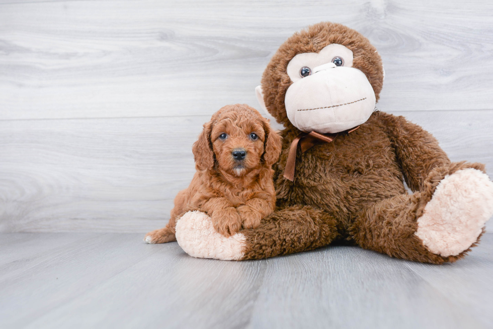
[{"label": "plush monkey's brown shaggy fur, excluding cream face, feet and ribbon", "polygon": [[[440,264],[462,258],[431,253],[415,235],[417,218],[440,180],[460,169],[484,171],[478,163],[451,163],[438,142],[421,127],[382,112],[351,134],[298,152],[294,182],[283,177],[289,147],[300,134],[286,116],[284,98],[292,81],[286,73],[297,54],[328,44],[346,46],[353,67],[366,74],[378,100],[383,82],[380,56],[358,32],[319,23],[296,33],[267,66],[262,88],[269,112],[286,127],[274,165],[277,209],[256,229],[244,230],[243,259],[260,259],[346,240],[392,257]],[[406,193],[403,180],[416,193]]]}]

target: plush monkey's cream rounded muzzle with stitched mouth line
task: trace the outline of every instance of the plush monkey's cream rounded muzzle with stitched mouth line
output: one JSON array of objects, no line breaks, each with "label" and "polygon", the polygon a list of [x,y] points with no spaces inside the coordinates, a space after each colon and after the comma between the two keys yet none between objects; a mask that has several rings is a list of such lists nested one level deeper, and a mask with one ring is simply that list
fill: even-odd
[{"label": "plush monkey's cream rounded muzzle with stitched mouth line", "polygon": [[360,70],[328,67],[294,82],[284,102],[289,121],[299,130],[339,133],[370,118],[375,92]]}]

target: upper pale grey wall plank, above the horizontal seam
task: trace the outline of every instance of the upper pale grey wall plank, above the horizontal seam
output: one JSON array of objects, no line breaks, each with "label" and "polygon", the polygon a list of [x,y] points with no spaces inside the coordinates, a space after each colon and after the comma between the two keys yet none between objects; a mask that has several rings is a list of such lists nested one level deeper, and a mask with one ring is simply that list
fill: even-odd
[{"label": "upper pale grey wall plank, above the horizontal seam", "polygon": [[320,21],[348,25],[377,47],[384,111],[493,108],[493,3],[485,0],[2,3],[0,120],[256,105],[274,51]]}]

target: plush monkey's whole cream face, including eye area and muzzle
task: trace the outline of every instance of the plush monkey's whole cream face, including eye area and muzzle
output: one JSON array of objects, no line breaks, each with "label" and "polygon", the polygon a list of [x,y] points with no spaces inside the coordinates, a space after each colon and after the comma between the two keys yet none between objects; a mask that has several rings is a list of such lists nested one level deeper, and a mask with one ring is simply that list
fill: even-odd
[{"label": "plush monkey's whole cream face, including eye area and muzzle", "polygon": [[375,93],[352,65],[353,52],[339,44],[293,57],[287,66],[293,83],[284,98],[289,121],[301,131],[322,134],[366,122],[375,109]]}]

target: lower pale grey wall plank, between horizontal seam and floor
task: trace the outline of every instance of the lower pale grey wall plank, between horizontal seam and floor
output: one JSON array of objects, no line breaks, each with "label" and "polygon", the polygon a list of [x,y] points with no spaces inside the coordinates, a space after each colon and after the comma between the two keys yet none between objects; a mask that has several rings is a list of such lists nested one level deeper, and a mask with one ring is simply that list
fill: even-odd
[{"label": "lower pale grey wall plank, between horizontal seam and floor", "polygon": [[[493,169],[493,111],[398,113]],[[0,121],[0,232],[148,232],[195,172],[207,116]],[[478,142],[479,141],[479,142]]]}]

